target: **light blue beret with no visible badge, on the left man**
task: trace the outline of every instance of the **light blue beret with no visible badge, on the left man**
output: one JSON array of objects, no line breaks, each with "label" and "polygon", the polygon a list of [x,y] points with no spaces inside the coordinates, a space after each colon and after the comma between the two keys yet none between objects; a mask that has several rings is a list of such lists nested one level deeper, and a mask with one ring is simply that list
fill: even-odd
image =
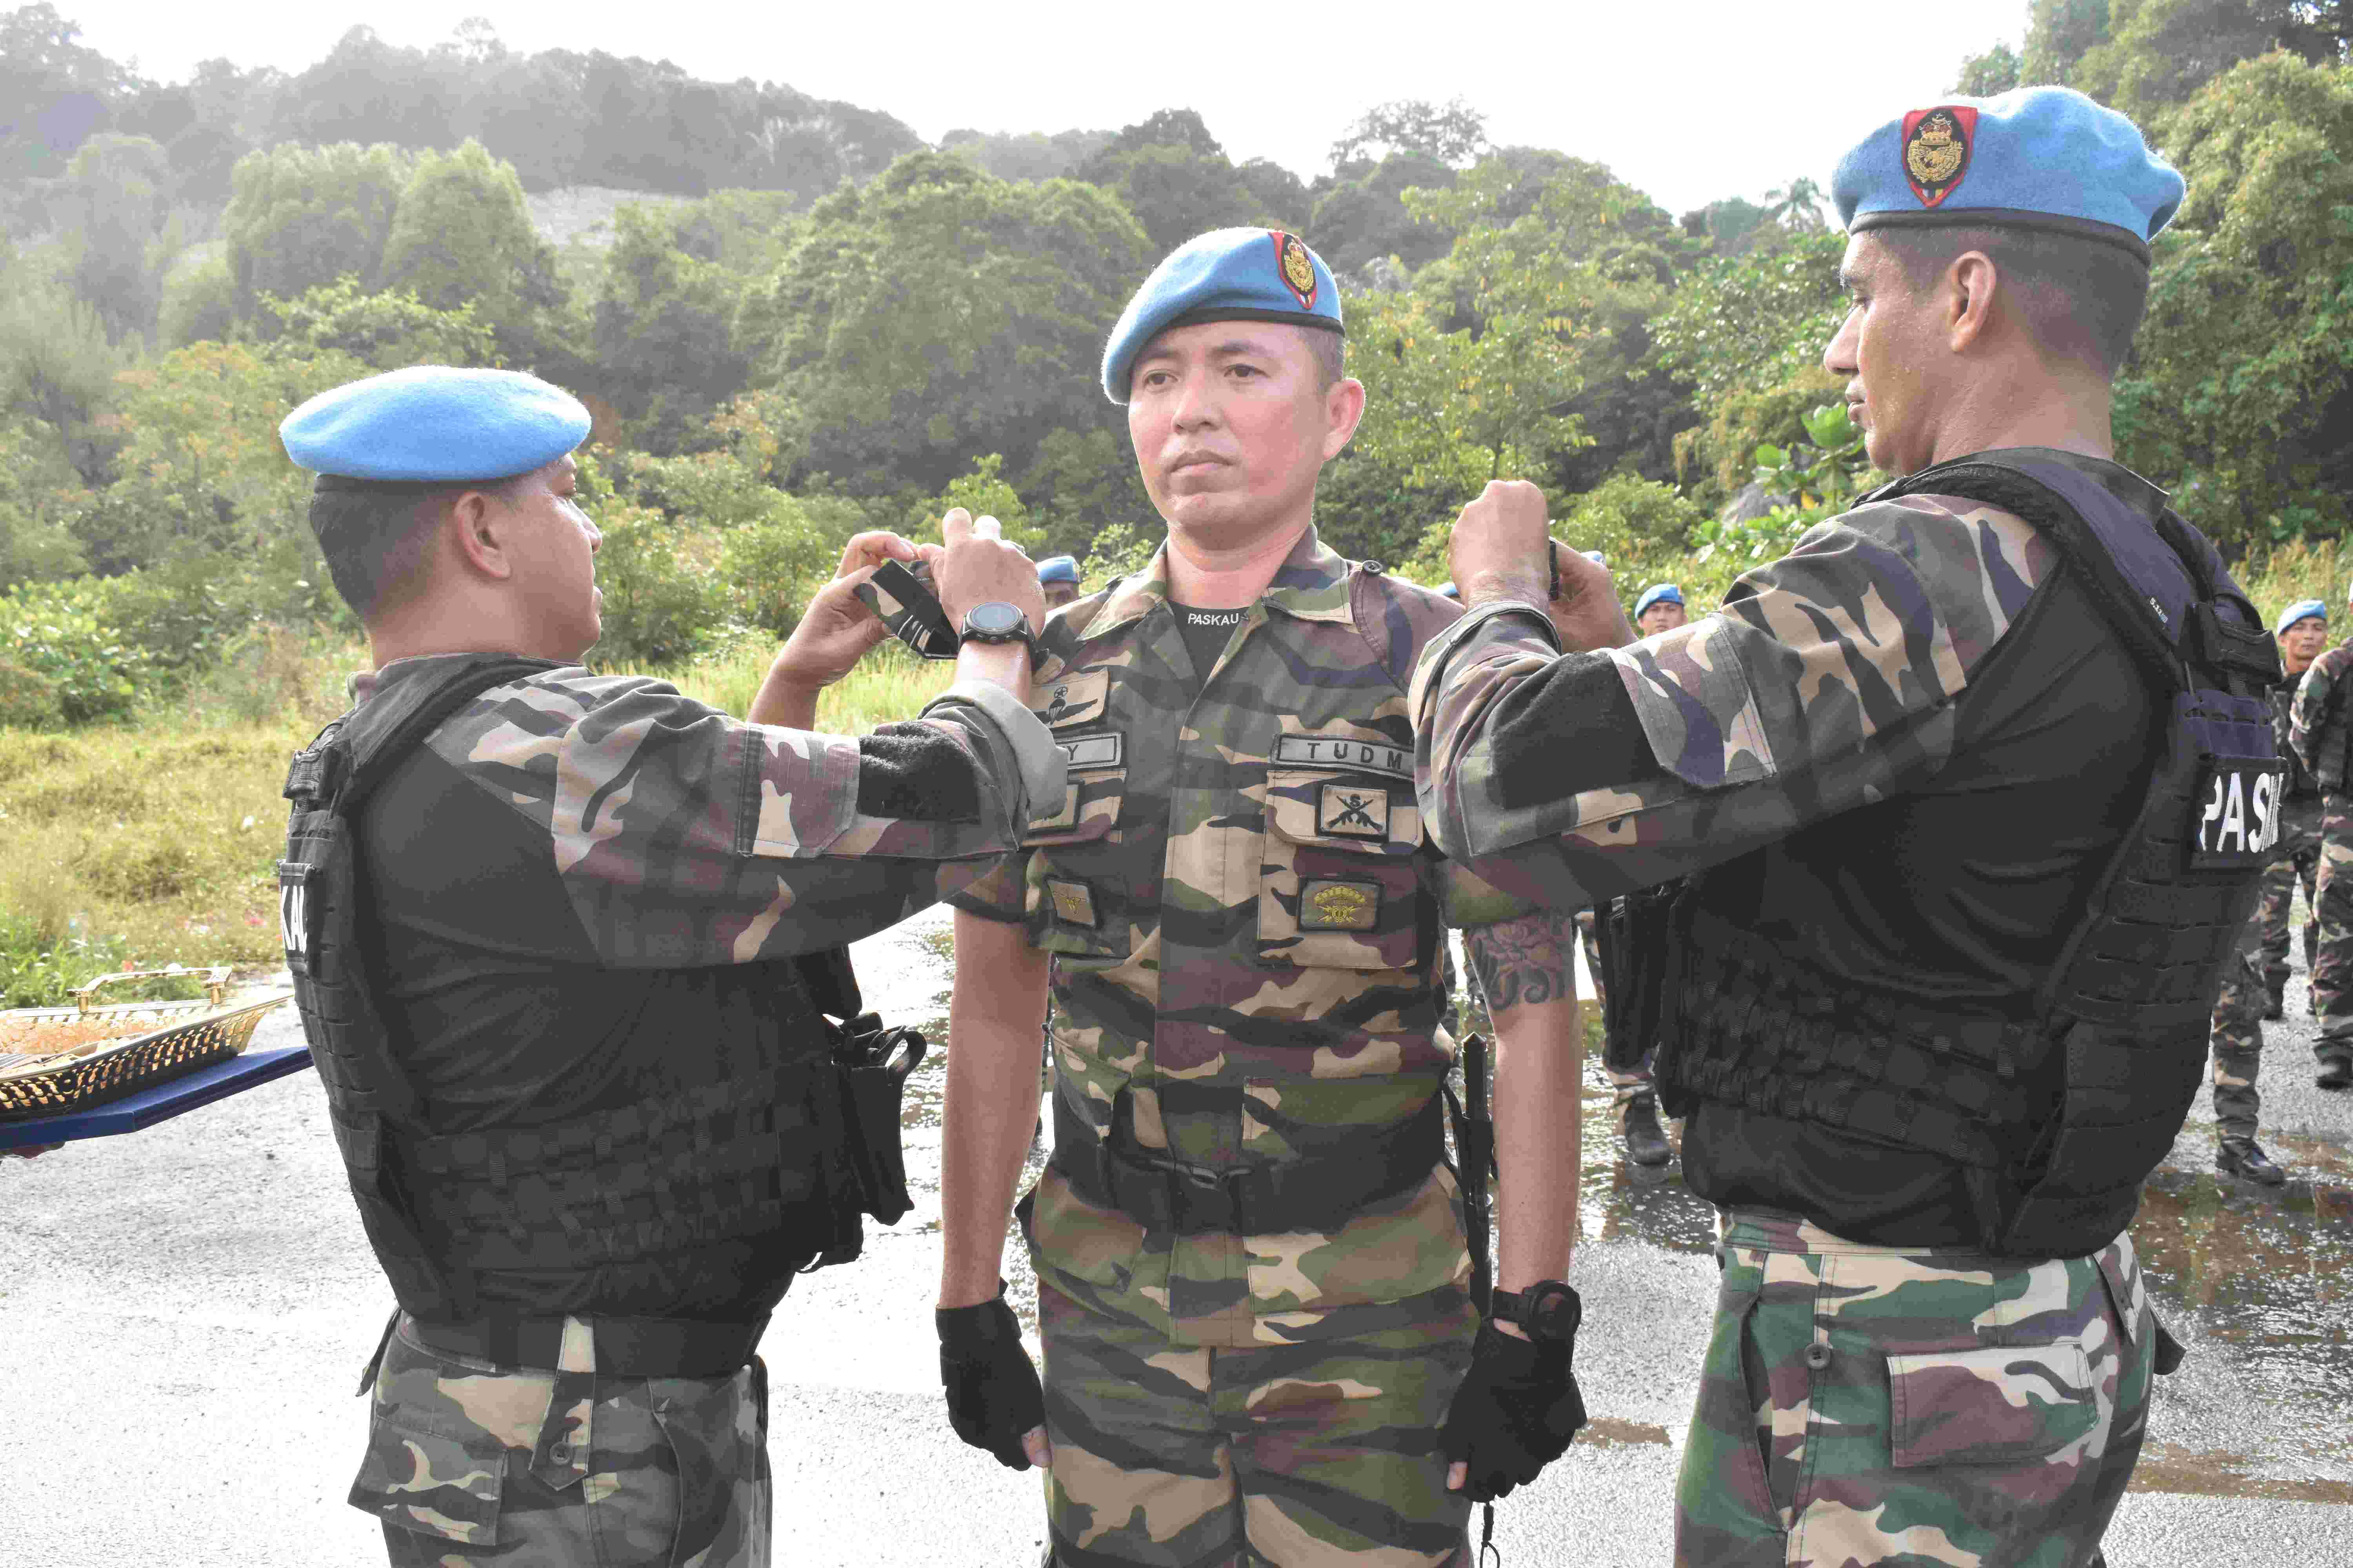
[{"label": "light blue beret with no visible badge, on the left man", "polygon": [[588,440],[588,409],[522,371],[412,364],[320,393],[278,440],[318,475],[464,484],[546,468]]}]

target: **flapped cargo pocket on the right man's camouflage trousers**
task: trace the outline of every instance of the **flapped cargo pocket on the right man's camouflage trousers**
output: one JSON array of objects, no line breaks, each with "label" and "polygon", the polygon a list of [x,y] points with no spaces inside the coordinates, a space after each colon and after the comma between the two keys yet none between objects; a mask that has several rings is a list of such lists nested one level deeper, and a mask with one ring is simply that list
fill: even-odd
[{"label": "flapped cargo pocket on the right man's camouflage trousers", "polygon": [[2075,1340],[1887,1356],[1897,1469],[2038,1460],[2099,1425]]}]

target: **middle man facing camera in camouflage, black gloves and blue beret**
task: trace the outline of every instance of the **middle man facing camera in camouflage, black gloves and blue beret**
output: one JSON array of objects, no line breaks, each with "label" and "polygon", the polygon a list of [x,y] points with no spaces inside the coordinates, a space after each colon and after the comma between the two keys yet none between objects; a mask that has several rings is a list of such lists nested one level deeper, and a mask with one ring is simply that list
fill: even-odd
[{"label": "middle man facing camera in camouflage, black gloves and blue beret", "polygon": [[[1059,1563],[1464,1563],[1471,1502],[1584,1420],[1569,922],[1421,832],[1407,686],[1459,607],[1318,538],[1365,404],[1322,259],[1191,240],[1101,386],[1167,541],[1047,623],[1071,795],[953,898],[948,1415],[1049,1467]],[[1445,919],[1506,1041],[1485,1321],[1485,1213],[1440,1147]],[[1054,1157],[1019,1208],[1040,1392],[998,1260],[1049,997]]]}]

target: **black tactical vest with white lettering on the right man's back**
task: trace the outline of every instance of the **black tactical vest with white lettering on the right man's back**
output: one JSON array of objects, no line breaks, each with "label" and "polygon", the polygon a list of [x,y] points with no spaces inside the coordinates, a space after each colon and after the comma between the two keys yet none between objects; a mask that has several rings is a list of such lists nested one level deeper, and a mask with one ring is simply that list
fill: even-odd
[{"label": "black tactical vest with white lettering on the right man's back", "polygon": [[2042,983],[2005,1004],[1861,987],[1713,910],[1711,884],[1774,907],[1760,856],[1694,877],[1659,978],[1659,1091],[1675,1114],[1713,1100],[1951,1159],[1977,1175],[1986,1251],[2075,1258],[2132,1220],[2198,1093],[2280,832],[2278,649],[2195,529],[2172,512],[2153,529],[2075,468],[1974,456],[1866,501],[1904,494],[2017,512],[2089,588],[2158,693],[2139,811]]}]

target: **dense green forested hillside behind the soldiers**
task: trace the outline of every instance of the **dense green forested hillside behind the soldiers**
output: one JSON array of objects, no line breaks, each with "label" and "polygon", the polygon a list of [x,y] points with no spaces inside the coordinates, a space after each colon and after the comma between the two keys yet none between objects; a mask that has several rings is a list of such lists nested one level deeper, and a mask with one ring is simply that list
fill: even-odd
[{"label": "dense green forested hillside behind the soldiers", "polygon": [[[2188,176],[2118,433],[2233,552],[2353,527],[2348,14],[2033,0],[1958,82],[2073,82]],[[1155,256],[1231,223],[1344,280],[1369,414],[1320,520],[1348,552],[1438,574],[1440,524],[1527,475],[1628,592],[1706,588],[1859,482],[1819,367],[1845,240],[1809,181],[1678,219],[1466,103],[1381,103],[1301,179],[1188,108],[929,148],[480,21],[153,82],[52,5],[0,12],[0,726],[120,715],[268,628],[348,632],[275,423],[395,364],[588,400],[612,663],[776,637],[852,531],[958,503],[1132,564],[1155,524],[1101,341]],[[642,200],[581,237],[548,216],[572,186]]]}]

